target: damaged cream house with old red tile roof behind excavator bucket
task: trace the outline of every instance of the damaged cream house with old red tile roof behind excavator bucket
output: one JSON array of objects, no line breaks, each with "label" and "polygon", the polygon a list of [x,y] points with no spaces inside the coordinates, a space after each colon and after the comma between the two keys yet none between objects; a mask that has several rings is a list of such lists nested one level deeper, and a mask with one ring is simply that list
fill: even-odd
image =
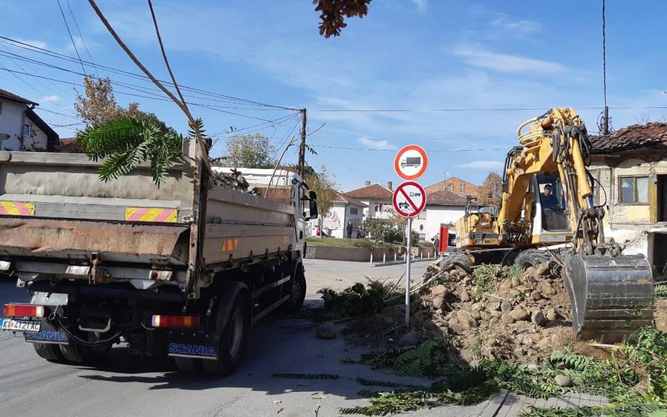
[{"label": "damaged cream house with old red tile roof behind excavator bucket", "polygon": [[606,237],[626,254],[645,254],[657,275],[667,275],[667,123],[635,124],[590,140]]}]

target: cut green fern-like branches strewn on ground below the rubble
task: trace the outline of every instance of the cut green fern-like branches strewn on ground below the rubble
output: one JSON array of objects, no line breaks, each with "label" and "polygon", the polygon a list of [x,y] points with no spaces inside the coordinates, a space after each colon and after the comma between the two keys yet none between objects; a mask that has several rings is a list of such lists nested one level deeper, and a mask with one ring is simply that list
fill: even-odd
[{"label": "cut green fern-like branches strewn on ground below the rubble", "polygon": [[[667,415],[667,335],[643,327],[614,350],[606,361],[572,351],[555,353],[537,369],[504,361],[482,359],[471,367],[452,354],[450,338],[426,341],[418,347],[400,347],[365,354],[357,363],[389,367],[400,375],[440,377],[429,389],[368,392],[369,405],[341,409],[342,414],[384,416],[443,404],[472,404],[498,389],[532,398],[547,398],[568,391],[595,393],[609,399],[600,406],[570,409],[532,407],[525,417],[664,416]],[[557,386],[554,377],[573,379],[570,388]]]}]

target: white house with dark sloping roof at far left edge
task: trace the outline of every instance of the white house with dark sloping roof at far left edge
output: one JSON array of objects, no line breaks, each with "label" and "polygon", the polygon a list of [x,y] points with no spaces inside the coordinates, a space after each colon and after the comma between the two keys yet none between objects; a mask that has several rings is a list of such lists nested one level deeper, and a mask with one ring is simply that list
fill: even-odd
[{"label": "white house with dark sloping roof at far left edge", "polygon": [[55,151],[58,133],[35,113],[35,101],[0,89],[0,150]]}]

